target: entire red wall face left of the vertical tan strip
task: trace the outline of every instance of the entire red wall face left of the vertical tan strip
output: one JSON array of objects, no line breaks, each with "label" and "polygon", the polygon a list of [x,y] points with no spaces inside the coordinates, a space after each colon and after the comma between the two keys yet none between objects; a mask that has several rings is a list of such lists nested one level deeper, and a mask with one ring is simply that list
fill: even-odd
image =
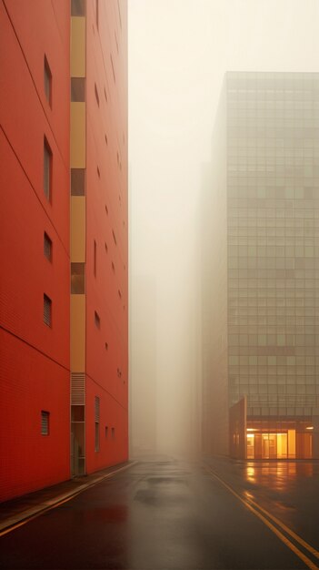
[{"label": "entire red wall face left of the vertical tan strip", "polygon": [[[1,500],[70,476],[67,4],[0,2]],[[44,137],[53,152],[52,203],[44,194]],[[53,303],[52,327],[44,322],[44,293]],[[42,410],[50,412],[48,436],[41,435]]]}]

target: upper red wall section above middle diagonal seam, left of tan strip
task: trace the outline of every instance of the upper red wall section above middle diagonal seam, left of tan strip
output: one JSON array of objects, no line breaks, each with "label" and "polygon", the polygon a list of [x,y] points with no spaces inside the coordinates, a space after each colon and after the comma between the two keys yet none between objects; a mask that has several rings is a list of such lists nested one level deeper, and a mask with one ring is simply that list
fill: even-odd
[{"label": "upper red wall section above middle diagonal seam, left of tan strip", "polygon": [[[16,36],[17,30],[13,27],[15,20],[9,19],[4,5],[0,3],[0,68],[2,76],[5,77],[0,93],[0,118],[5,136],[19,158],[21,168],[25,170],[25,175],[29,178],[48,217],[52,219],[60,239],[68,245],[69,192],[65,192],[65,185],[69,187],[69,46],[68,51],[62,56],[61,50],[64,45],[60,42],[59,29],[53,25],[55,20],[53,22],[45,20],[50,32],[48,30],[45,45],[41,43],[38,45],[39,34],[35,33],[33,26],[36,22],[37,27],[41,28],[39,14],[41,15],[45,6],[49,9],[51,2],[46,0],[39,14],[36,11],[38,4],[39,2],[32,5],[19,3],[19,10],[17,10],[16,2],[5,3],[9,5],[8,11],[15,6],[15,12],[20,14],[20,18],[25,19],[23,29],[29,45],[25,46],[25,51],[23,51]],[[67,22],[69,25],[69,15]],[[53,30],[55,31],[54,37],[52,37]],[[47,102],[44,103],[44,56],[51,44],[56,46],[56,56],[60,55],[58,61],[61,66],[61,68],[58,67],[59,71],[56,72],[56,76],[53,76],[52,110]],[[35,50],[41,57],[39,56],[37,60],[37,75],[33,76],[28,56],[29,51],[33,54]],[[56,66],[58,66],[58,61],[56,61]],[[43,189],[44,136],[54,155],[52,204],[47,202]]]}]

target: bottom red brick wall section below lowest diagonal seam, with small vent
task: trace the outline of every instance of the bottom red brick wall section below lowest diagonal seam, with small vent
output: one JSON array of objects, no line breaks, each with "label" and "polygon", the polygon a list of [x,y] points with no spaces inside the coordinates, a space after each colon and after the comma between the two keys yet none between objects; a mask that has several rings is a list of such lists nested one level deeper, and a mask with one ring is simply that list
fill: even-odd
[{"label": "bottom red brick wall section below lowest diagonal seam, with small vent", "polygon": [[[69,372],[0,329],[0,501],[64,481],[70,473]],[[41,435],[41,411],[50,435]],[[61,442],[64,441],[64,445]]]}]

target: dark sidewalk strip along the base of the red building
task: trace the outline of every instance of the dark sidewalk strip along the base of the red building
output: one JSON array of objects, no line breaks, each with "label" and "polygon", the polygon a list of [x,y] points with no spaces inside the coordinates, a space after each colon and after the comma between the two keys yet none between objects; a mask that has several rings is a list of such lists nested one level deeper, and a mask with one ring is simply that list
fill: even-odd
[{"label": "dark sidewalk strip along the base of the red building", "polygon": [[55,484],[52,487],[46,487],[40,491],[5,501],[5,503],[0,504],[0,536],[12,530],[16,524],[21,524],[23,521],[33,518],[57,504],[67,501],[76,494],[82,493],[88,487],[111,477],[115,473],[128,469],[135,463],[135,461],[119,463],[103,471],[75,477],[69,481]]}]

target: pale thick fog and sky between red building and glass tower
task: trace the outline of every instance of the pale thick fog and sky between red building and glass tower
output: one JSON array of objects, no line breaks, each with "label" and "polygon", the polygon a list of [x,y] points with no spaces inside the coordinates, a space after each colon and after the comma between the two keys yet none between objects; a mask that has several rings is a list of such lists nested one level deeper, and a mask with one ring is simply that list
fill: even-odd
[{"label": "pale thick fog and sky between red building and glass tower", "polygon": [[318,71],[319,2],[128,0],[128,18],[131,455],[195,456],[201,191],[224,73]]}]

